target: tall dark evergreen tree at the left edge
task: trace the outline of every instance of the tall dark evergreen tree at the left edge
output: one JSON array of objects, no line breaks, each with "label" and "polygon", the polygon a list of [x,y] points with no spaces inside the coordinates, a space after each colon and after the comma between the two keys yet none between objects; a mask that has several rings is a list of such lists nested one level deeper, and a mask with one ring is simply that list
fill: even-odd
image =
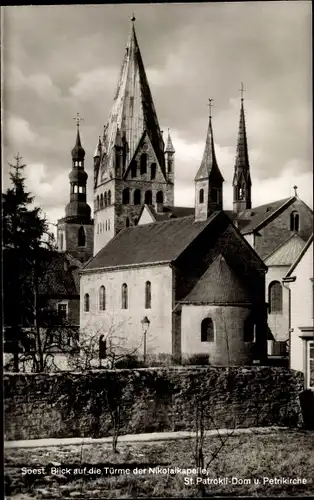
[{"label": "tall dark evergreen tree at the left edge", "polygon": [[43,269],[43,238],[48,237],[48,246],[52,240],[41,209],[31,207],[34,197],[26,191],[26,165],[21,159],[18,154],[15,165],[9,164],[12,187],[2,195],[5,341],[14,353],[15,371],[19,369],[19,351],[27,344],[25,327],[39,328],[37,295]]}]

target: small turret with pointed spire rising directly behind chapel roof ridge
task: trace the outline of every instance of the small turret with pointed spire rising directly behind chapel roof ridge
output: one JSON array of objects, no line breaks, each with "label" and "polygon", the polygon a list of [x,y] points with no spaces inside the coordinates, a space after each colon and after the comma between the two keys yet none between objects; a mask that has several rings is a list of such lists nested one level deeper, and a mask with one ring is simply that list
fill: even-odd
[{"label": "small turret with pointed spire rising directly behind chapel roof ridge", "polygon": [[209,215],[222,210],[224,179],[219,170],[212,128],[211,107],[212,99],[209,99],[209,123],[206,144],[200,168],[194,179],[195,181],[195,220],[204,221]]}]

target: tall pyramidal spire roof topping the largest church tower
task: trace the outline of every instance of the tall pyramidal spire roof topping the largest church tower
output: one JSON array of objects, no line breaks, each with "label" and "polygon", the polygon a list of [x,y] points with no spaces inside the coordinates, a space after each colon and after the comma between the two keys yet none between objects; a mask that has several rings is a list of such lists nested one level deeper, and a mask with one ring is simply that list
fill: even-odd
[{"label": "tall pyramidal spire roof topping the largest church tower", "polygon": [[102,138],[102,158],[105,168],[112,165],[113,146],[117,129],[126,141],[126,165],[134,156],[146,130],[162,170],[164,170],[164,141],[149,88],[140,48],[132,20],[131,34],[118,80],[113,106]]}]

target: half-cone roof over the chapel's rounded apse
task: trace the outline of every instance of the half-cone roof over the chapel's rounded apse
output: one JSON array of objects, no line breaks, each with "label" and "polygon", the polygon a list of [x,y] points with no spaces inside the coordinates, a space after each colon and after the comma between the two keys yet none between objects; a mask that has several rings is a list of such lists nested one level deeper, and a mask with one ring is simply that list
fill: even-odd
[{"label": "half-cone roof over the chapel's rounded apse", "polygon": [[183,302],[249,304],[250,299],[244,284],[219,254]]}]

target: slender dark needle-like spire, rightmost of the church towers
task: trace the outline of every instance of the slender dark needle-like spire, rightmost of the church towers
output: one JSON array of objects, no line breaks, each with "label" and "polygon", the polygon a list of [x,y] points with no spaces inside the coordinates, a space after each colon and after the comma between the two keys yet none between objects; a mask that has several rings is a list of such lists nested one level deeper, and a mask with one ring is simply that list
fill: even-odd
[{"label": "slender dark needle-like spire, rightmost of the church towers", "polygon": [[251,208],[251,176],[243,106],[243,84],[241,85],[241,110],[237,154],[233,176],[233,211],[243,212]]}]

